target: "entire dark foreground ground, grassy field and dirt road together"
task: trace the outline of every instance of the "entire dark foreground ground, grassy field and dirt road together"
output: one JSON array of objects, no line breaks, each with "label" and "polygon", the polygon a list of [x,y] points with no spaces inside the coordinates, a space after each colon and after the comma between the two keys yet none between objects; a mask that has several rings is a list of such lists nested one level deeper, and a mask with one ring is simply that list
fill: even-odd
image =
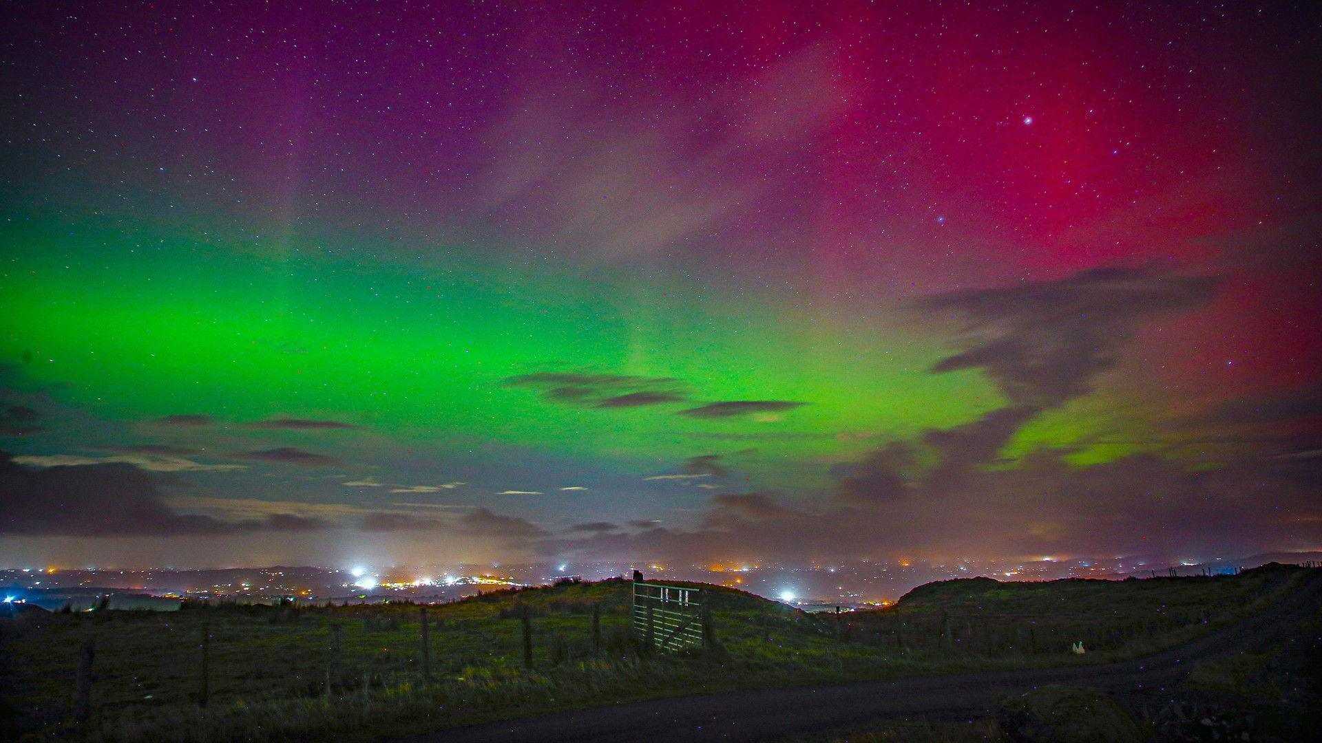
[{"label": "entire dark foreground ground, grassy field and dirt road together", "polygon": [[[628,583],[568,584],[428,609],[430,684],[420,609],[411,606],[46,615],[4,624],[0,656],[11,665],[12,732],[34,739],[368,740],[442,728],[451,730],[424,739],[760,739],[824,730],[921,739],[873,726],[924,715],[939,726],[965,721],[932,739],[972,740],[986,738],[962,736],[995,731],[966,721],[1042,684],[1105,689],[1140,715],[1153,707],[1147,717],[1159,727],[1161,705],[1203,693],[1187,680],[1196,664],[1207,693],[1261,707],[1259,686],[1276,699],[1282,684],[1273,658],[1293,658],[1315,637],[1307,623],[1318,583],[1317,571],[1288,567],[1122,583],[960,580],[842,620],[722,590],[720,646],[693,656],[639,652],[627,631]],[[596,644],[594,607],[603,627]],[[75,724],[74,669],[89,637],[93,714]],[[1069,652],[1075,641],[1087,654]],[[1307,674],[1284,684],[1294,678]],[[1294,705],[1285,718],[1309,703],[1301,694],[1285,694]],[[490,722],[529,715],[543,717]]]}]

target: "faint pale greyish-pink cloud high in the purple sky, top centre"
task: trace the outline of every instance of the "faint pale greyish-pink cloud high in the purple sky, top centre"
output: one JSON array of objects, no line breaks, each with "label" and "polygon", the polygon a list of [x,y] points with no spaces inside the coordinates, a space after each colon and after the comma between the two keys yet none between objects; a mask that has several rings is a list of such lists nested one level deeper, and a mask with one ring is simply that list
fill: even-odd
[{"label": "faint pale greyish-pink cloud high in the purple sky, top centre", "polygon": [[814,45],[689,103],[542,81],[489,134],[480,208],[578,259],[702,255],[717,235],[783,219],[771,205],[784,209],[789,173],[850,108],[847,78]]}]

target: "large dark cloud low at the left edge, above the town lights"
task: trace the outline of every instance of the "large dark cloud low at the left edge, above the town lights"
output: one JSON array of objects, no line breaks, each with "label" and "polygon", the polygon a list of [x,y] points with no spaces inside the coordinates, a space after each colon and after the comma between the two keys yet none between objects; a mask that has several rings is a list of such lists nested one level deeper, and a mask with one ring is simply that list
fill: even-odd
[{"label": "large dark cloud low at the left edge, above the town lights", "polygon": [[29,468],[0,452],[0,534],[176,537],[246,530],[307,531],[327,522],[291,514],[222,521],[184,514],[164,502],[169,480],[123,463]]}]

